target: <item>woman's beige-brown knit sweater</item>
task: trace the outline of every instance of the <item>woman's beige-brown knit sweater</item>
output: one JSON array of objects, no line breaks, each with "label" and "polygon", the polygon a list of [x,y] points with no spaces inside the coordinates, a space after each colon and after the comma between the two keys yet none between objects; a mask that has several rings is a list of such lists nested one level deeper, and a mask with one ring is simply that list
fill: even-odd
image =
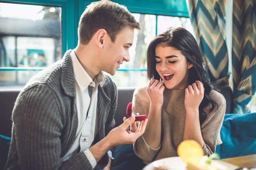
[{"label": "woman's beige-brown knit sweater", "polygon": [[[226,100],[215,90],[209,97],[217,102],[218,107],[209,112],[211,104],[204,108],[206,120],[201,125],[202,137],[204,139],[204,154],[211,155],[216,150],[216,145],[222,144],[220,139],[220,128],[224,119]],[[183,133],[186,119],[184,106],[184,89],[165,89],[164,104],[162,107],[162,138],[158,148],[153,148],[146,143],[143,135],[137,139],[133,148],[135,154],[145,163],[177,156],[177,146],[183,141]],[[150,98],[146,87],[135,90],[132,99],[133,114],[140,113],[148,116]]]}]

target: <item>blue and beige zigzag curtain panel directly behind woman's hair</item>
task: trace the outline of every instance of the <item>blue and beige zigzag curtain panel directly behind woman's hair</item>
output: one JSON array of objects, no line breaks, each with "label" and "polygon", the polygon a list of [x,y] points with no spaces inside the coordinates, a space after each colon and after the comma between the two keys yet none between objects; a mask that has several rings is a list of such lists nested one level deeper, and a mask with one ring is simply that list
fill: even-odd
[{"label": "blue and beige zigzag curtain panel directly behind woman's hair", "polygon": [[187,4],[195,38],[209,63],[208,78],[212,83],[228,84],[225,0],[188,0]]}]

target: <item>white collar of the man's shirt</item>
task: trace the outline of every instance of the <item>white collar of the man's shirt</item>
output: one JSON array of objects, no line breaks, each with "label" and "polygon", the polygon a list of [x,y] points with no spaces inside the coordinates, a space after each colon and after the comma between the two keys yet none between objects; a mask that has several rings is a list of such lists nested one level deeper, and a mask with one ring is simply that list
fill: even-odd
[{"label": "white collar of the man's shirt", "polygon": [[74,50],[72,50],[72,52],[70,53],[70,57],[72,59],[74,77],[81,90],[85,90],[89,85],[92,87],[97,87],[98,85],[103,87],[106,81],[106,76],[103,74],[103,72],[97,74],[93,81],[88,73],[83,69],[83,66],[77,59]]}]

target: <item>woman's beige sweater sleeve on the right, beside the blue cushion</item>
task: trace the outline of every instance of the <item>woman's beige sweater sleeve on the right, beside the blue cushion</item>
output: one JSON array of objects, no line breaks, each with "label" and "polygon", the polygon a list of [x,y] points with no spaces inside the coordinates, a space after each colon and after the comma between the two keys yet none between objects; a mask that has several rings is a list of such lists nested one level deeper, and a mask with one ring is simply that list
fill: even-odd
[{"label": "woman's beige sweater sleeve on the right, beside the blue cushion", "polygon": [[[211,97],[217,102],[218,107],[216,106],[213,111],[207,113],[206,120],[201,125],[202,137],[204,139],[204,155],[215,153],[216,145],[222,144],[220,129],[225,116],[226,100],[216,91]],[[207,110],[209,110],[209,107],[204,109],[204,111]]]}]

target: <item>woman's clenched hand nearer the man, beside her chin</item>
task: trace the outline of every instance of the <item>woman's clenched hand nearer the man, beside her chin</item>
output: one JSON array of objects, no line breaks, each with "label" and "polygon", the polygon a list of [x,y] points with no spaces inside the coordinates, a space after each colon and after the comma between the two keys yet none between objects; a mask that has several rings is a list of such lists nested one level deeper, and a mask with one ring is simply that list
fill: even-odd
[{"label": "woman's clenched hand nearer the man, beside her chin", "polygon": [[164,103],[164,84],[153,78],[150,79],[148,83],[147,92],[150,98],[150,105],[162,107]]}]

